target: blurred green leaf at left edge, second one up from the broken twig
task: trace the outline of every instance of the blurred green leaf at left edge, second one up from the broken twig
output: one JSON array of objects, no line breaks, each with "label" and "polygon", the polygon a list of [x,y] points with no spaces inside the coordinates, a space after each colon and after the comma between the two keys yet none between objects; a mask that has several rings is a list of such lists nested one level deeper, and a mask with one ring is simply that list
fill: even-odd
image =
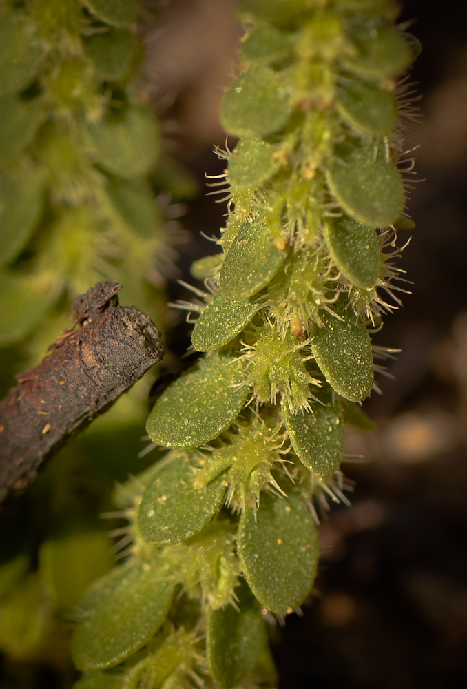
[{"label": "blurred green leaf at left edge, second one up from the broken twig", "polygon": [[12,263],[30,240],[41,217],[44,179],[37,169],[23,172],[0,201],[0,266]]}]

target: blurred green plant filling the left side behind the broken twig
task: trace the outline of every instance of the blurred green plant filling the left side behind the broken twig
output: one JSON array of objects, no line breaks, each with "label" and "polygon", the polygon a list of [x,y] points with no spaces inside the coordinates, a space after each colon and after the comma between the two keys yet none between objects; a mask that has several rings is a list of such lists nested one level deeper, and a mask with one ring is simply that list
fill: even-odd
[{"label": "blurred green plant filling the left side behind the broken twig", "polygon": [[[138,22],[157,12],[136,0],[0,2],[2,396],[72,325],[72,301],[95,282],[121,282],[121,302],[160,331],[174,322],[166,282],[184,238],[179,201],[196,181],[167,154],[141,78]],[[154,375],[2,515],[2,686],[34,686],[41,668],[53,668],[47,681],[74,679],[67,615],[114,564],[99,514],[114,481],[143,466]]]}]

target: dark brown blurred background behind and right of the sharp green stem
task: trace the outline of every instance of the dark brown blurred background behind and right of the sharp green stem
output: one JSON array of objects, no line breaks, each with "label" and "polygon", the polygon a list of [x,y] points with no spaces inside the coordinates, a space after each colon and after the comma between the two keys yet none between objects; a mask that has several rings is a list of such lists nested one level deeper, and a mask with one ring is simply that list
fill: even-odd
[{"label": "dark brown blurred background behind and right of the sharp green stem", "polygon": [[[233,6],[173,0],[147,28],[147,96],[204,192],[184,220],[180,270],[191,282],[191,261],[214,251],[199,233],[225,224],[204,174],[224,167],[212,150],[225,145],[218,107],[236,70]],[[423,124],[407,144],[420,145],[423,181],[398,264],[412,294],[375,340],[402,353],[394,378],[379,380],[383,394],[365,402],[375,431],[349,433],[352,507],[322,522],[313,596],[273,632],[283,689],[467,687],[467,3],[406,0],[400,19],[423,45],[410,75]],[[180,354],[187,332],[172,338]]]}]

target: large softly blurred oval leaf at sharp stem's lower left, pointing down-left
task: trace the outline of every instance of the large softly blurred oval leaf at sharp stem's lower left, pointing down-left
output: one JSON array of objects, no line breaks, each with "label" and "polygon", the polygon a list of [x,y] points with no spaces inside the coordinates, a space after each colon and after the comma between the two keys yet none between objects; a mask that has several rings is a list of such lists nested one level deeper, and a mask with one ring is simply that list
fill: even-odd
[{"label": "large softly blurred oval leaf at sharp stem's lower left, pointing down-left", "polygon": [[81,600],[85,615],[72,639],[76,668],[112,668],[147,644],[167,616],[174,586],[157,559],[132,559],[94,582]]}]

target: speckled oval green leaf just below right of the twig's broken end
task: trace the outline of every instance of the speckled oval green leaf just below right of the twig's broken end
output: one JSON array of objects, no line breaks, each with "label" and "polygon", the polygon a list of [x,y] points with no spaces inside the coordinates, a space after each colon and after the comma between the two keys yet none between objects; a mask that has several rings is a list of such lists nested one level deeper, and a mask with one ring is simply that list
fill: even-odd
[{"label": "speckled oval green leaf just below right of the twig's broken end", "polygon": [[165,447],[195,447],[217,438],[236,420],[247,399],[242,362],[212,353],[183,373],[149,414],[147,432]]}]

